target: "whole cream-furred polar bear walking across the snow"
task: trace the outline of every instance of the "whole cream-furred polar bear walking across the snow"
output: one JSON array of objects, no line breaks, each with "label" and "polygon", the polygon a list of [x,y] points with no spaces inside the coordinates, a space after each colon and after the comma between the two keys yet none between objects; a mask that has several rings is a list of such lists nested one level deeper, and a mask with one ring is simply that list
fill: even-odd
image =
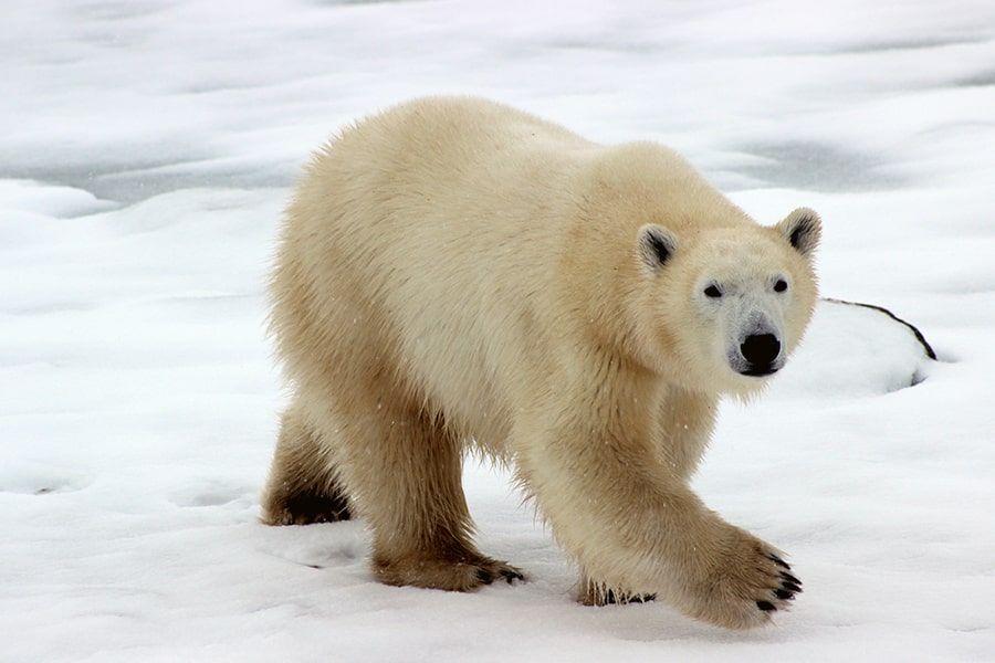
[{"label": "whole cream-furred polar bear walking across the snow", "polygon": [[754,222],[651,143],[604,147],[432,97],[346,129],[290,203],[271,283],[294,397],[263,520],[366,519],[388,585],[522,572],[473,544],[461,463],[507,463],[580,600],[727,628],[800,591],[690,490],[718,399],[784,366],[816,299],[808,209]]}]

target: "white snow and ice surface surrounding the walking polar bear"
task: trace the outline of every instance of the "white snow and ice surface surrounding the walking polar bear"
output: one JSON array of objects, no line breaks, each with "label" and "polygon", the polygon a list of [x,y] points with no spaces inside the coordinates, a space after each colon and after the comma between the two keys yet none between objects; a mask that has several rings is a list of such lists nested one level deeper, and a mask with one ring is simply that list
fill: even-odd
[{"label": "white snow and ice surface surrounding the walking polar bear", "polygon": [[[995,660],[995,4],[8,2],[0,21],[0,661]],[[342,123],[475,93],[685,152],[825,222],[820,307],[695,484],[805,593],[724,632],[589,609],[506,476],[467,492],[532,580],[373,582],[359,523],[269,528],[285,399],[262,286]],[[912,382],[921,382],[905,388]]]}]

